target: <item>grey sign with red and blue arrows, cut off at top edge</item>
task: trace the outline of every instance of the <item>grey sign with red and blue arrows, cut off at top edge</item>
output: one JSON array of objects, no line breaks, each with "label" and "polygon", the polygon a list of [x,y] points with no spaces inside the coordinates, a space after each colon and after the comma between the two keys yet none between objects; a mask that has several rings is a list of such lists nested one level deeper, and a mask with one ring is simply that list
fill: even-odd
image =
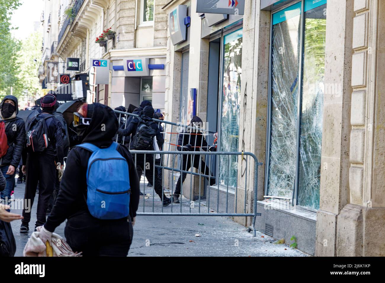
[{"label": "grey sign with red and blue arrows, cut off at top edge", "polygon": [[[197,0],[197,13],[243,15],[245,0]],[[254,0],[255,1],[255,0]]]}]

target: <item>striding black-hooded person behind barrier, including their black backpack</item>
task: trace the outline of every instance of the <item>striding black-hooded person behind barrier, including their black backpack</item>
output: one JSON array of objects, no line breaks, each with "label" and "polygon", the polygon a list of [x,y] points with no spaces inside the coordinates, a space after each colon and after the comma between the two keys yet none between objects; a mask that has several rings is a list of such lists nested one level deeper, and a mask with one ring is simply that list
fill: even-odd
[{"label": "striding black-hooded person behind barrier, including their black backpack", "polygon": [[[130,150],[154,150],[153,137],[156,136],[157,146],[161,148],[164,143],[161,132],[159,131],[156,122],[152,121],[154,115],[154,108],[151,106],[145,106],[139,117],[134,117],[132,122],[126,129],[119,129],[118,133],[123,136],[131,135]],[[147,136],[148,135],[148,136]],[[146,144],[141,144],[141,141],[146,141]],[[144,154],[136,154],[136,170],[138,178],[140,180],[142,172],[145,171],[145,177],[147,181],[154,186],[155,192],[163,201],[163,206],[167,206],[171,203],[171,199],[167,198],[163,193],[163,188],[157,174],[154,174],[154,156],[153,154],[146,154],[146,160],[144,160]],[[146,166],[147,165],[147,166]],[[146,168],[146,170],[144,170]],[[155,179],[155,184],[153,180]],[[143,193],[142,193],[143,194]]]}]

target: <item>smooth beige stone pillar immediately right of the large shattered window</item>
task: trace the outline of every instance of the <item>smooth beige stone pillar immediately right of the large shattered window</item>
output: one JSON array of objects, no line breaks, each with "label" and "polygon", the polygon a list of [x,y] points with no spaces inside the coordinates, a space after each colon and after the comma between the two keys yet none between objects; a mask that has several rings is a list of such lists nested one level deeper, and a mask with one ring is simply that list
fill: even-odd
[{"label": "smooth beige stone pillar immediately right of the large shattered window", "polygon": [[316,256],[336,255],[337,215],[349,199],[353,0],[328,1]]}]

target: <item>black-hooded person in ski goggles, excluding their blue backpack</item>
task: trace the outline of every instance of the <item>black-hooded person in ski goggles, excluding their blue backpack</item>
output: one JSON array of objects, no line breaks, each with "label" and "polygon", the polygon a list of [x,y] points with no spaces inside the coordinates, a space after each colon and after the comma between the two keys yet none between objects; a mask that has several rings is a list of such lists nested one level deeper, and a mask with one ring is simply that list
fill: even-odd
[{"label": "black-hooded person in ski goggles, excluding their blue backpack", "polygon": [[[83,104],[81,109],[83,110],[78,112],[91,120],[89,126],[80,124],[76,127],[80,141],[89,142],[100,148],[109,147],[118,129],[114,111],[99,103]],[[50,234],[67,219],[65,238],[72,250],[82,251],[83,256],[127,256],[131,245],[132,226],[139,205],[139,180],[134,161],[127,148],[119,145],[117,151],[127,160],[129,168],[131,187],[129,216],[102,220],[90,214],[86,201],[86,172],[92,152],[81,147],[73,147],[67,158],[55,205],[43,227],[45,233]]]}]

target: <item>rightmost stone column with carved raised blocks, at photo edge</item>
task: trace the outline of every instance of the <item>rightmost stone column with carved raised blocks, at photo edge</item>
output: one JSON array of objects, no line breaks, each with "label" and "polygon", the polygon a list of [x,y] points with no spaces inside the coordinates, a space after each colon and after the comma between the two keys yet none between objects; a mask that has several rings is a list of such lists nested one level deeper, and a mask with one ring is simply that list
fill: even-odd
[{"label": "rightmost stone column with carved raised blocks, at photo edge", "polygon": [[385,3],[355,0],[350,204],[338,215],[337,256],[384,256]]}]

